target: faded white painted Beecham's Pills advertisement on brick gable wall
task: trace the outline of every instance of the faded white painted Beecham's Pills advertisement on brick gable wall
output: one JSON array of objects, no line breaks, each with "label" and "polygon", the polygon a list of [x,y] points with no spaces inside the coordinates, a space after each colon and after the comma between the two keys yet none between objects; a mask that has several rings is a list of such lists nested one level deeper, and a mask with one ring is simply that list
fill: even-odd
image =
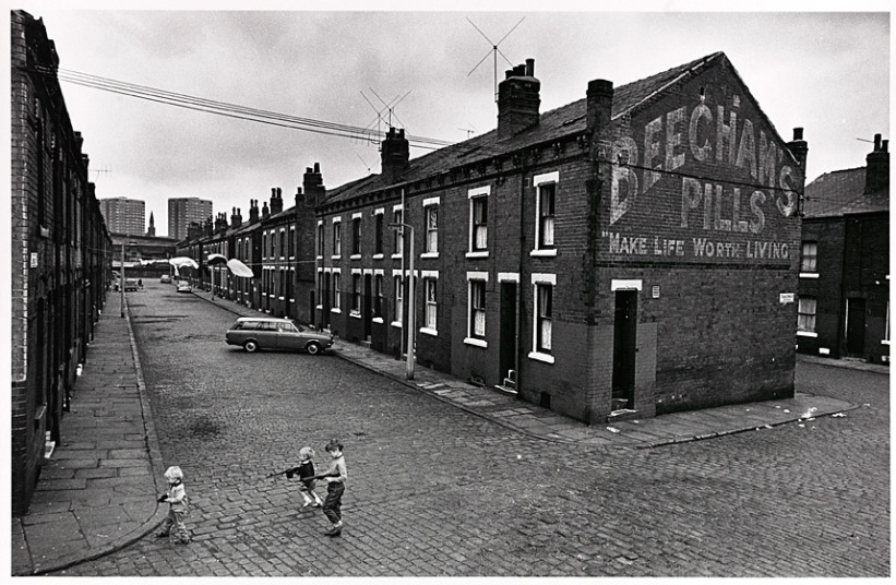
[{"label": "faded white painted Beecham's Pills advertisement on brick gable wall", "polygon": [[604,255],[787,264],[800,253],[792,227],[801,171],[761,126],[764,116],[729,87],[710,104],[701,86],[692,104],[646,123],[635,118],[633,135],[613,142]]}]

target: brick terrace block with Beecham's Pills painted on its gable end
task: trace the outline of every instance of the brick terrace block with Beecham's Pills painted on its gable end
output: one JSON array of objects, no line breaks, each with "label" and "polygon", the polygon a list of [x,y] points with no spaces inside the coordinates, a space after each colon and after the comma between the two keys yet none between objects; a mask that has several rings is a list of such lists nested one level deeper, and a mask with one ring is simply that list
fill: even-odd
[{"label": "brick terrace block with Beecham's Pills painted on its gable end", "polygon": [[[318,207],[315,322],[586,422],[791,396],[802,130],[785,143],[721,52],[498,128]],[[404,224],[405,236],[395,226]],[[414,273],[410,273],[410,250]]]}]

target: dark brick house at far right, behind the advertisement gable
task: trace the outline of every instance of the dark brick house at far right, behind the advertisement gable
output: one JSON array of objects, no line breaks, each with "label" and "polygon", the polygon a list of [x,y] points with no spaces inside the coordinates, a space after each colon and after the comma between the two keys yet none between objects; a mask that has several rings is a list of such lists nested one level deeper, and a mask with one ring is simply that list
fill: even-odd
[{"label": "dark brick house at far right, behind the advertisement gable", "polygon": [[805,188],[798,351],[889,363],[889,153]]}]

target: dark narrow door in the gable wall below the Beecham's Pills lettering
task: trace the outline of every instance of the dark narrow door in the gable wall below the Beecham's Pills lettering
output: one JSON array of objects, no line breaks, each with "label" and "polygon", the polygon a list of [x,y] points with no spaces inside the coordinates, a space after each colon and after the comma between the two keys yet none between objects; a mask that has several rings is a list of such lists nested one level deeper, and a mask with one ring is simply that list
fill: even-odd
[{"label": "dark narrow door in the gable wall below the Beecham's Pills lettering", "polygon": [[613,318],[613,410],[633,407],[636,342],[637,290],[617,290]]}]

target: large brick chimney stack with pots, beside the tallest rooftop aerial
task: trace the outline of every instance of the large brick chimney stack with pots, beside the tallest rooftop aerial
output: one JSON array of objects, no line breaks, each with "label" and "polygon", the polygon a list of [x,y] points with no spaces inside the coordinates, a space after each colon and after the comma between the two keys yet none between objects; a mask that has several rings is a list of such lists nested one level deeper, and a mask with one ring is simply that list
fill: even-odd
[{"label": "large brick chimney stack with pots, beside the tallest rooftop aerial", "polygon": [[535,76],[535,59],[505,72],[498,85],[498,139],[509,139],[538,126],[541,82]]}]

